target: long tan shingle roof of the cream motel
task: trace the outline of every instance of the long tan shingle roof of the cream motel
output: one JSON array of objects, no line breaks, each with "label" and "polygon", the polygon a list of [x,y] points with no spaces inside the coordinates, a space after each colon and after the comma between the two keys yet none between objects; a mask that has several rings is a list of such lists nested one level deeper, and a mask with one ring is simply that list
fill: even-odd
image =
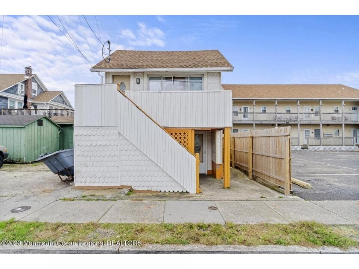
[{"label": "long tan shingle roof of the cream motel", "polygon": [[358,98],[359,90],[342,84],[222,84],[232,98]]}]

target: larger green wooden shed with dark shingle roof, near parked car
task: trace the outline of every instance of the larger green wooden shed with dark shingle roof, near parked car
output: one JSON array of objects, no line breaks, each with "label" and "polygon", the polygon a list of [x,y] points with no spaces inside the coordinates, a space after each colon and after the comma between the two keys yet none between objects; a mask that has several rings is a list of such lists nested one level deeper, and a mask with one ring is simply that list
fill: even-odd
[{"label": "larger green wooden shed with dark shingle roof, near parked car", "polygon": [[39,155],[59,150],[61,127],[43,115],[0,116],[0,145],[7,161],[33,162]]}]

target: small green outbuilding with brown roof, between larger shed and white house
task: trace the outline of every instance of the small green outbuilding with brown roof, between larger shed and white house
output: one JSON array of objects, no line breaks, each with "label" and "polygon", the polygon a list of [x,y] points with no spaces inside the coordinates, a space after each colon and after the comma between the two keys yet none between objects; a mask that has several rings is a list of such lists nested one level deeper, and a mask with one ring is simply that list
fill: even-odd
[{"label": "small green outbuilding with brown roof, between larger shed and white house", "polygon": [[52,117],[51,120],[61,127],[60,150],[74,147],[74,117]]}]

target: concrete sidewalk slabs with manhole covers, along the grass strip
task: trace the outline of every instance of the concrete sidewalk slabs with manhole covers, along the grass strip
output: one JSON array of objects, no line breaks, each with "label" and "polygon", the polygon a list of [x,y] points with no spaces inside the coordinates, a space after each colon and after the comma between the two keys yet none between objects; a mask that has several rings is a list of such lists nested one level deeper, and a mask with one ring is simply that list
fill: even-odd
[{"label": "concrete sidewalk slabs with manhole covers, along the grass strip", "polygon": [[[54,195],[0,200],[0,221],[238,224],[316,221],[324,224],[359,224],[358,201],[195,201],[117,200],[63,201]],[[20,213],[11,209],[31,206]],[[213,210],[215,209],[215,210]]]}]

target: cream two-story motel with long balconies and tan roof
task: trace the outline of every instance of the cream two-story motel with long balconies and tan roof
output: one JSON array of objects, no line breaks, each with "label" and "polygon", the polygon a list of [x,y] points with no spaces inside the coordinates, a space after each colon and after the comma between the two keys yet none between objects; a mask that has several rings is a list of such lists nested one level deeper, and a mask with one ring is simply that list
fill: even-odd
[{"label": "cream two-story motel with long balconies and tan roof", "polygon": [[293,149],[359,144],[357,89],[322,84],[222,86],[232,91],[232,132],[290,126],[291,144],[297,146]]}]

